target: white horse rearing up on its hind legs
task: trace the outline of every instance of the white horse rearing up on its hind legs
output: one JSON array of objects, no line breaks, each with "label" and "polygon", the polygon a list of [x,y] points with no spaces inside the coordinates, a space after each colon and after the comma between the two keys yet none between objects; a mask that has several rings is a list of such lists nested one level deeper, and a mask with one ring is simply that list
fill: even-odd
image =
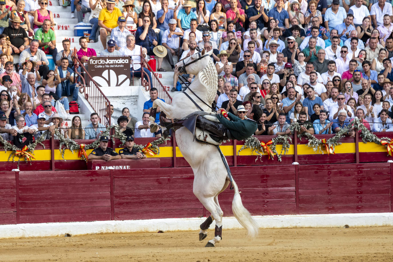
[{"label": "white horse rearing up on its hind legs", "polygon": [[[188,59],[178,62],[174,71],[175,74],[180,71],[195,75],[195,80],[185,90],[185,93],[206,112],[211,112],[208,105],[211,105],[217,92],[217,71],[210,58],[211,53],[212,51],[209,51],[205,54],[205,50],[202,49],[201,53],[195,53]],[[202,103],[189,89],[206,104]],[[152,108],[158,106],[169,119],[181,119],[195,111],[200,111],[184,93],[175,95],[172,105],[156,99]],[[151,127],[154,130],[154,118],[151,116],[150,120],[153,123]],[[206,247],[214,247],[221,240],[222,229],[223,212],[219,205],[218,195],[230,183],[228,172],[216,146],[195,141],[193,134],[184,126],[176,130],[175,136],[182,155],[194,172],[193,193],[211,213],[211,216],[200,226],[199,240],[206,238],[209,225],[215,220],[215,236],[206,244]],[[234,180],[232,185],[235,191],[232,201],[233,214],[239,223],[247,229],[248,236],[255,237],[258,234],[258,225],[247,209],[244,208],[239,189]]]}]

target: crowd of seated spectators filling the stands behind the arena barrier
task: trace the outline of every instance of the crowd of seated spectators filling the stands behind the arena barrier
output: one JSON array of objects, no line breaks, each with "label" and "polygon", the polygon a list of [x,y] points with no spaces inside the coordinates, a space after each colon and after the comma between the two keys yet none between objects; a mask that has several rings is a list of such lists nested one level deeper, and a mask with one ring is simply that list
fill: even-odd
[{"label": "crowd of seated spectators filling the stands behind the arena barrier", "polygon": [[[141,55],[147,60],[155,55],[158,71],[166,71],[164,58],[174,70],[174,56],[181,61],[202,48],[212,51],[219,74],[213,105],[242,119],[259,106],[264,114],[257,135],[289,134],[294,121],[303,132],[334,134],[354,117],[369,130],[393,131],[393,7],[386,0],[72,1],[78,22],[90,13],[92,24],[90,36],[79,38],[77,54],[69,40],[56,47],[47,6],[48,0],[0,0],[1,130],[19,144],[55,128],[72,139],[100,137],[105,126],[98,114],[86,128],[78,116],[73,128],[62,128],[79,91],[74,55],[82,63],[97,56],[88,47],[96,41],[104,47],[99,55],[131,57],[131,77],[144,71],[150,82]],[[177,85],[175,76],[172,91]],[[142,121],[123,108],[117,122],[127,137],[161,136],[148,130],[152,102],[160,99],[155,88],[150,96]],[[57,114],[57,101],[65,117]]]}]

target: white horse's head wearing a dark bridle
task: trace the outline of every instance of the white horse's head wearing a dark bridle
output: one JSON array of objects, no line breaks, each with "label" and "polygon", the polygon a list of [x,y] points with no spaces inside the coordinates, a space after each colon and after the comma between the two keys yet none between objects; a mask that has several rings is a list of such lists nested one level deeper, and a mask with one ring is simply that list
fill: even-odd
[{"label": "white horse's head wearing a dark bridle", "polygon": [[208,64],[208,59],[213,53],[213,49],[206,52],[205,49],[198,53],[194,53],[188,58],[185,58],[178,62],[174,67],[175,74],[193,74],[197,75],[203,68]]}]

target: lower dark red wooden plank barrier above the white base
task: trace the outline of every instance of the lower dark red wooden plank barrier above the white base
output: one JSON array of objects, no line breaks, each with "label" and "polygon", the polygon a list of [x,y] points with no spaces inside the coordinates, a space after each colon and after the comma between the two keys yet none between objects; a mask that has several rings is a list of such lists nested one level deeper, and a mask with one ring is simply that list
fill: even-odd
[{"label": "lower dark red wooden plank barrier above the white base", "polygon": [[[253,215],[391,212],[392,164],[232,167]],[[0,224],[207,215],[191,168],[0,172]],[[231,216],[233,191],[219,196]]]}]

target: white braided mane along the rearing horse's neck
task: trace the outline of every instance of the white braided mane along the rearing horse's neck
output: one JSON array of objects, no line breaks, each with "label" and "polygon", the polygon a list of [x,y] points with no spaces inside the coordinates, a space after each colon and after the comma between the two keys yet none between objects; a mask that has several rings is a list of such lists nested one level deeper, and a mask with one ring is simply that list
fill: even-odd
[{"label": "white braided mane along the rearing horse's neck", "polygon": [[209,57],[208,64],[199,72],[200,82],[206,87],[205,100],[211,104],[216,96],[218,75],[217,70]]}]

